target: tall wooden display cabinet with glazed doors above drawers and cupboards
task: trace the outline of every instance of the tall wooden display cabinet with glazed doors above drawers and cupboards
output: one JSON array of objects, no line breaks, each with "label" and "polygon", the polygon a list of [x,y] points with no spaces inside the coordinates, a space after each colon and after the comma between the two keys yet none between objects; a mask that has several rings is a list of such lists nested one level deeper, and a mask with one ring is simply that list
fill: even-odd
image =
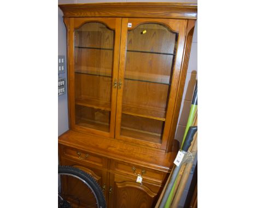
[{"label": "tall wooden display cabinet with glazed doors above drawers and cupboards", "polygon": [[[59,137],[60,163],[94,176],[109,207],[151,207],[178,149],[197,5],[59,7],[67,29],[70,126]],[[140,174],[147,169],[142,185],[136,167]]]}]

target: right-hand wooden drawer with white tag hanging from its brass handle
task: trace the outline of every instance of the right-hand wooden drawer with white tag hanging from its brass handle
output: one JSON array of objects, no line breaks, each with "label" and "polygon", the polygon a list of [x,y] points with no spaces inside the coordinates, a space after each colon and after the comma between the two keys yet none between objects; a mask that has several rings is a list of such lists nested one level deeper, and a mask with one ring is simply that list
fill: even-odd
[{"label": "right-hand wooden drawer with white tag hanging from its brass handle", "polygon": [[165,172],[158,170],[137,166],[136,164],[126,163],[123,161],[111,161],[110,168],[115,172],[129,174],[129,175],[142,175],[143,178],[162,183],[165,180]]}]

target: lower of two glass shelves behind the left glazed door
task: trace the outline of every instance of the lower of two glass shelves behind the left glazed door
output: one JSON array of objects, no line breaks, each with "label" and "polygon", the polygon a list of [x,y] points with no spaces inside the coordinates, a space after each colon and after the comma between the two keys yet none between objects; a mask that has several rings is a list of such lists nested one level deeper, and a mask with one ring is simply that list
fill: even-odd
[{"label": "lower of two glass shelves behind the left glazed door", "polygon": [[112,69],[94,68],[94,67],[78,66],[78,65],[75,65],[74,68],[75,68],[75,73],[104,76],[104,77],[110,77],[110,78],[112,77]]}]

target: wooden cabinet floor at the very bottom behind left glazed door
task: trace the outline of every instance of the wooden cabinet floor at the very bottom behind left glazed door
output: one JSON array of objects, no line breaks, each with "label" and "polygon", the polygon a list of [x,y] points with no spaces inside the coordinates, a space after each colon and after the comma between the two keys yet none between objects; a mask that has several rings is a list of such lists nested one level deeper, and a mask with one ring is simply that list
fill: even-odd
[{"label": "wooden cabinet floor at the very bottom behind left glazed door", "polygon": [[77,118],[76,125],[87,127],[90,129],[96,129],[104,132],[109,132],[109,124],[108,123],[102,123],[100,121],[90,120],[90,119],[82,119]]}]

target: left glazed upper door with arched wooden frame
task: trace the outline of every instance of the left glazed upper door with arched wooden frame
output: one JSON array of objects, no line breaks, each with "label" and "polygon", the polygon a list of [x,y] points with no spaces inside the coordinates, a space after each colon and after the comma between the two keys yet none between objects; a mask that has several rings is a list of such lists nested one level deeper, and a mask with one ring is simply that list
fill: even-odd
[{"label": "left glazed upper door with arched wooden frame", "polygon": [[120,18],[68,19],[71,129],[114,138]]}]

